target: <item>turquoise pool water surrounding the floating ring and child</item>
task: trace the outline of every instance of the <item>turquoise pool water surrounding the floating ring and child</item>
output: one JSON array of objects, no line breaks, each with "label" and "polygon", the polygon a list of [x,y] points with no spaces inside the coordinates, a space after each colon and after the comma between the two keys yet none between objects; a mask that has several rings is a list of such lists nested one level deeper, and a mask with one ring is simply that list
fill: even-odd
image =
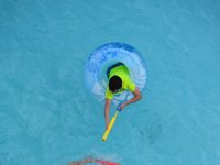
[{"label": "turquoise pool water surrounding the floating ring and child", "polygon": [[[0,164],[218,165],[219,30],[218,0],[0,0]],[[102,142],[82,73],[116,41],[142,53],[148,82]]]}]

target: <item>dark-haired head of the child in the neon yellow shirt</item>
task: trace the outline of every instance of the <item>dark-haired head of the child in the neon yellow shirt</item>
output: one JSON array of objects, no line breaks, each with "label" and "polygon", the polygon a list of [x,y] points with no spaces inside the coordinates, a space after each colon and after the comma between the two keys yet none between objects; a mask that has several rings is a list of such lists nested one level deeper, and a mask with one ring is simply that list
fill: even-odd
[{"label": "dark-haired head of the child in the neon yellow shirt", "polygon": [[121,87],[122,87],[122,80],[119,76],[114,75],[109,79],[109,89],[112,92],[118,92],[118,90],[120,90]]}]

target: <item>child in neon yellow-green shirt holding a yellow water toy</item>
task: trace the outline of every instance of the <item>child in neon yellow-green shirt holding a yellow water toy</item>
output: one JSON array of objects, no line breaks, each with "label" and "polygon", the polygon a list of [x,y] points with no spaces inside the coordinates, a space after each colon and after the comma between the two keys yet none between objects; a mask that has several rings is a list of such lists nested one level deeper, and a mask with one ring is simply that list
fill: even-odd
[{"label": "child in neon yellow-green shirt holding a yellow water toy", "polygon": [[107,69],[107,77],[109,79],[108,89],[106,91],[106,106],[105,106],[105,118],[106,118],[106,129],[109,127],[109,110],[111,106],[111,100],[114,95],[123,92],[124,90],[130,90],[133,94],[133,98],[121,103],[119,106],[120,110],[123,110],[128,105],[133,103],[141,99],[141,91],[131,80],[129,75],[129,69],[123,63],[117,63]]}]

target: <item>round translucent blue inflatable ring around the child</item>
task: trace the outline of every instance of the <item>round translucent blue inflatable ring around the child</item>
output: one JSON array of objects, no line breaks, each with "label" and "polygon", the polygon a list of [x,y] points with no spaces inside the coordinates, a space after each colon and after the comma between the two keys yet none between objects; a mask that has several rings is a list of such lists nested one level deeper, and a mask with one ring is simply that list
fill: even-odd
[{"label": "round translucent blue inflatable ring around the child", "polygon": [[[108,88],[107,69],[116,63],[123,63],[130,72],[131,79],[140,90],[143,90],[147,80],[146,65],[140,53],[124,43],[108,43],[95,50],[86,64],[85,81],[89,91],[99,100],[106,98]],[[130,91],[114,95],[116,105],[132,98]]]}]

